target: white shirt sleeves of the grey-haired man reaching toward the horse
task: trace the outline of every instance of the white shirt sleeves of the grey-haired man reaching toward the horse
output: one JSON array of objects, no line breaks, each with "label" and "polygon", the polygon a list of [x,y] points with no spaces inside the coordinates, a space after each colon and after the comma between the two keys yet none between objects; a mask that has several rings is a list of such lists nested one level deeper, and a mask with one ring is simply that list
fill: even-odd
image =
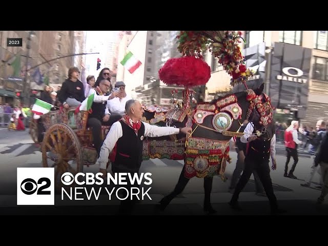
[{"label": "white shirt sleeves of the grey-haired man reaching toward the horse", "polygon": [[[175,127],[158,127],[150,125],[146,122],[141,122],[145,126],[144,137],[160,137],[172,134],[178,134],[179,128]],[[138,135],[136,133],[136,135]],[[103,146],[101,146],[99,158],[96,164],[99,164],[100,169],[106,169],[109,154],[114,149],[118,138],[123,136],[122,125],[119,121],[116,121],[110,128],[109,133],[106,136]],[[133,148],[133,146],[131,146]]]}]

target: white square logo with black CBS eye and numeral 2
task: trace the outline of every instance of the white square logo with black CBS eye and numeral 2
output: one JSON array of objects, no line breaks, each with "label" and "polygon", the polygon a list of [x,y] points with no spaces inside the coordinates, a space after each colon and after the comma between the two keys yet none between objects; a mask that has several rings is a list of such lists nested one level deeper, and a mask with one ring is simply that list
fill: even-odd
[{"label": "white square logo with black CBS eye and numeral 2", "polygon": [[54,205],[54,168],[17,168],[17,205]]}]

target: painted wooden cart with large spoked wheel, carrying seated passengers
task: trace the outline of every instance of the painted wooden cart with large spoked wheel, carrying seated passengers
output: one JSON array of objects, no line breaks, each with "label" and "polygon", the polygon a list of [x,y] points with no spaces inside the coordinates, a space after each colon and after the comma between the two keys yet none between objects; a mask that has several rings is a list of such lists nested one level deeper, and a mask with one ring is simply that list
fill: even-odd
[{"label": "painted wooden cart with large spoked wheel, carrying seated passengers", "polygon": [[[30,135],[33,141],[38,143],[38,135],[43,134],[43,167],[55,168],[55,183],[60,183],[61,174],[83,172],[84,165],[94,165],[97,159],[92,132],[87,128],[89,114],[87,111],[75,114],[75,109],[50,111],[31,121]],[[102,127],[103,138],[109,128]]]}]

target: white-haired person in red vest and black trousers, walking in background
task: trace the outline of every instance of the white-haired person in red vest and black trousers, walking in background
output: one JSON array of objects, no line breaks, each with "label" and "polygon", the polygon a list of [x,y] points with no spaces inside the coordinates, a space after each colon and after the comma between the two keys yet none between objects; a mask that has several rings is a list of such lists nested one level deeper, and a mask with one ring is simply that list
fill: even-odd
[{"label": "white-haired person in red vest and black trousers, walking in background", "polygon": [[[285,147],[287,151],[287,160],[286,160],[285,172],[283,176],[289,178],[295,178],[295,179],[297,179],[297,177],[293,173],[295,171],[295,167],[298,162],[297,145],[302,143],[302,141],[298,140],[297,129],[298,129],[298,121],[293,120],[290,127],[285,130],[285,135],[284,135]],[[288,163],[291,159],[291,156],[294,159],[294,164],[291,170],[289,171],[289,174],[287,174]]]}]

